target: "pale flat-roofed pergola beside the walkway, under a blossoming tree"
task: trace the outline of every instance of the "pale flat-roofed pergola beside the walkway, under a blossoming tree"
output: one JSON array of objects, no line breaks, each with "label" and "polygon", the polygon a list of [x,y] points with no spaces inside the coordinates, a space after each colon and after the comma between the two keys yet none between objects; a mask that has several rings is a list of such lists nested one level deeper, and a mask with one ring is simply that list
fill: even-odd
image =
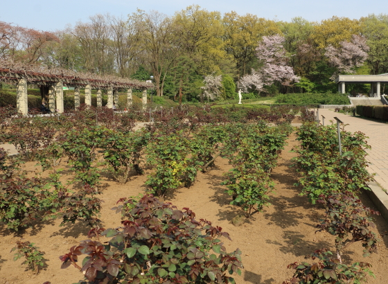
[{"label": "pale flat-roofed pergola beside the walkway, under a blossoming tree", "polygon": [[338,84],[338,93],[345,94],[346,84],[371,84],[370,94],[374,94],[373,89],[376,87],[376,95],[380,96],[381,83],[388,83],[388,73],[380,75],[339,75],[335,82]]}]

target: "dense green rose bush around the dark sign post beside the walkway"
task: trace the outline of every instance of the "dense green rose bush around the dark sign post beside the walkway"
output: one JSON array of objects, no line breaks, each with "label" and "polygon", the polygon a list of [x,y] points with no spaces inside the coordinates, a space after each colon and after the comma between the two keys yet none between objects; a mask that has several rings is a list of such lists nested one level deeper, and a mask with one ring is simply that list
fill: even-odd
[{"label": "dense green rose bush around the dark sign post beside the walkway", "polygon": [[340,156],[335,125],[318,126],[305,123],[299,128],[298,139],[301,148],[298,157],[292,159],[300,172],[299,184],[303,186],[301,195],[307,195],[315,204],[319,195],[348,190],[357,193],[371,180],[367,171],[370,148],[362,132],[341,130],[342,151]]}]

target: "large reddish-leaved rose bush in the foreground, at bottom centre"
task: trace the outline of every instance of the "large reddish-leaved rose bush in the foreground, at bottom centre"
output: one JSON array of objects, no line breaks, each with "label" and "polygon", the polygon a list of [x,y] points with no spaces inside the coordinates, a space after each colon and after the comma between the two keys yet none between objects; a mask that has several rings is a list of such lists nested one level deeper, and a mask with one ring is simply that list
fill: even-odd
[{"label": "large reddish-leaved rose bush in the foreground, at bottom centre", "polygon": [[[127,220],[102,235],[107,245],[85,240],[60,256],[62,268],[74,265],[85,275],[79,283],[235,283],[241,274],[240,250],[227,253],[220,237],[229,238],[211,222],[195,220],[188,208],[178,210],[152,196],[139,203],[121,199]],[[131,206],[125,206],[130,203]],[[230,238],[229,238],[230,239]],[[86,254],[82,267],[78,256]]]}]

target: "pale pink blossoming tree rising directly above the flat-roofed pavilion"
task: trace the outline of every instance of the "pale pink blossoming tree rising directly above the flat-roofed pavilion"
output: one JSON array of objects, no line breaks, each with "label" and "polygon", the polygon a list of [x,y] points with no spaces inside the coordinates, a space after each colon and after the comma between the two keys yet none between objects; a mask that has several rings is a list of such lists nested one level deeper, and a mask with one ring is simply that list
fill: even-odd
[{"label": "pale pink blossoming tree rising directly above the flat-roofed pavilion", "polygon": [[361,35],[353,35],[351,42],[340,42],[339,48],[331,44],[326,47],[325,56],[328,57],[329,63],[337,68],[332,79],[338,73],[355,73],[355,68],[362,66],[367,60],[367,51],[367,39]]}]

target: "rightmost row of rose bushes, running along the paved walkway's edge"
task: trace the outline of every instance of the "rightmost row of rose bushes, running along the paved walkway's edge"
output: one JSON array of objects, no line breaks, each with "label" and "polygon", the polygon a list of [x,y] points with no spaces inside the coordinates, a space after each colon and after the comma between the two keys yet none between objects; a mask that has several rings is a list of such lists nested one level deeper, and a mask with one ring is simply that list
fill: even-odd
[{"label": "rightmost row of rose bushes, running along the paved walkway's edge", "polygon": [[373,276],[369,263],[343,263],[342,253],[354,242],[361,242],[364,256],[376,252],[378,238],[371,231],[372,215],[377,211],[362,204],[360,190],[368,190],[371,175],[367,172],[366,150],[370,148],[367,137],[361,132],[341,130],[342,155],[339,151],[335,125],[317,125],[312,113],[304,115],[305,121],[297,131],[299,147],[293,159],[299,171],[301,195],[306,195],[312,204],[325,208],[325,217],[317,224],[317,231],[326,231],[335,236],[333,254],[321,249],[312,254],[317,263],[294,263],[294,277],[285,283],[361,283]]}]

